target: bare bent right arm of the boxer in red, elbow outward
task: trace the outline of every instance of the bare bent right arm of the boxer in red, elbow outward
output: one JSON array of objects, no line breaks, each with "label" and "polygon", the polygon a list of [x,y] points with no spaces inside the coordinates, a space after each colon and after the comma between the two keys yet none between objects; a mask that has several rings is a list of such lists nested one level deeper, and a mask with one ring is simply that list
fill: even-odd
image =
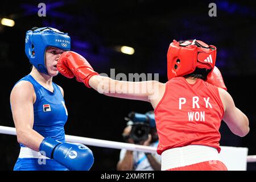
[{"label": "bare bent right arm of the boxer in red, elbow outward", "polygon": [[249,133],[249,120],[245,114],[234,104],[233,98],[226,90],[219,88],[221,101],[224,105],[223,121],[228,125],[232,133],[245,137]]}]

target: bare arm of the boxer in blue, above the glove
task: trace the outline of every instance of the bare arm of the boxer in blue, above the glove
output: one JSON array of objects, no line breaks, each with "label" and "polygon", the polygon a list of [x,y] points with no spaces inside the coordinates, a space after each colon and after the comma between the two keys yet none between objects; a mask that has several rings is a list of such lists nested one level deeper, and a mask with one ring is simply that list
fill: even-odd
[{"label": "bare arm of the boxer in blue, above the glove", "polygon": [[39,151],[44,137],[32,129],[34,123],[33,95],[32,84],[20,81],[11,91],[10,102],[18,142],[32,150]]}]

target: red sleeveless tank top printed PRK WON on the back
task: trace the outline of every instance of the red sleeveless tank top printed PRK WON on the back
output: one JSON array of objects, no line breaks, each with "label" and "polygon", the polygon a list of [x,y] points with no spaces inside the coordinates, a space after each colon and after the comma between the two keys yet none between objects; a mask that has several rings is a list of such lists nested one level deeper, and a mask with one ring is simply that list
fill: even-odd
[{"label": "red sleeveless tank top printed PRK WON on the back", "polygon": [[155,108],[158,154],[191,144],[214,147],[220,152],[218,129],[223,114],[224,106],[216,86],[201,79],[189,84],[184,77],[172,78]]}]

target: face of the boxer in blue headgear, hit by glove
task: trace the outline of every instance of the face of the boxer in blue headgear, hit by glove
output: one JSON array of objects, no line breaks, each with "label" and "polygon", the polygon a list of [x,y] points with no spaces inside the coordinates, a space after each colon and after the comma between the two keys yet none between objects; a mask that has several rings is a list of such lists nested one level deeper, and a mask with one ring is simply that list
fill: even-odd
[{"label": "face of the boxer in blue headgear, hit by glove", "polygon": [[57,59],[63,52],[63,50],[55,47],[48,47],[46,49],[46,68],[49,76],[56,76],[59,73],[56,67]]}]

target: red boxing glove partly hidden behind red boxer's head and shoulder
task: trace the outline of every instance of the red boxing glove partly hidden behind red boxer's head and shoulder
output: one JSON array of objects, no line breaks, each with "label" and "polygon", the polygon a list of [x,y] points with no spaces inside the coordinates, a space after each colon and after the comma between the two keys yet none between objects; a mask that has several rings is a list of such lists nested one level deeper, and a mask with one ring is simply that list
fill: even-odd
[{"label": "red boxing glove partly hidden behind red boxer's head and shoulder", "polygon": [[226,86],[224,84],[224,80],[222,78],[221,72],[217,67],[213,68],[213,71],[207,76],[207,80],[208,83],[215,85],[217,87],[220,87],[224,90],[226,89]]}]

